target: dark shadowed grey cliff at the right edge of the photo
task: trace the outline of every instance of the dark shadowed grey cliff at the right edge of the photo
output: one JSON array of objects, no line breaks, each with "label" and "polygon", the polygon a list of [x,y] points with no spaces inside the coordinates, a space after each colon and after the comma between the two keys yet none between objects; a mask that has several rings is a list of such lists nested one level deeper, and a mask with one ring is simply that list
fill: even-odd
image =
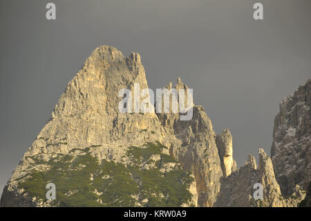
[{"label": "dark shadowed grey cliff at the right edge of the photo", "polygon": [[284,195],[296,184],[308,188],[311,181],[311,79],[280,103],[274,119],[272,162]]}]

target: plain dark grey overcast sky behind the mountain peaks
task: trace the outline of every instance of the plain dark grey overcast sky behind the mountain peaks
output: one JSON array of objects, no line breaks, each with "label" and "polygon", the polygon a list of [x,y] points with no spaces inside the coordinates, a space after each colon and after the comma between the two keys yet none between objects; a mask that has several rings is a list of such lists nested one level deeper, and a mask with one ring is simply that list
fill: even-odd
[{"label": "plain dark grey overcast sky behind the mountain peaks", "polygon": [[1,0],[0,28],[0,193],[97,46],[140,53],[151,89],[193,88],[216,133],[232,132],[238,166],[270,154],[280,100],[311,77],[310,0]]}]

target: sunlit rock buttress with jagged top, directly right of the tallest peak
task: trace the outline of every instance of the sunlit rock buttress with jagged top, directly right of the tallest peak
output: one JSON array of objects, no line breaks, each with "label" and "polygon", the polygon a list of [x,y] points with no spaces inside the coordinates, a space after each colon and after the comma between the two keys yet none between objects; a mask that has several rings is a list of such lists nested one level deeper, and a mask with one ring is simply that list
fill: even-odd
[{"label": "sunlit rock buttress with jagged top, directly right of the tallest peak", "polygon": [[[166,88],[171,89],[171,83]],[[189,87],[178,79],[173,88],[178,91]],[[180,121],[180,114],[172,113],[158,114],[158,117],[164,128],[180,141],[171,146],[171,154],[180,161],[183,168],[194,173],[198,206],[213,206],[220,189],[219,179],[223,176],[216,134],[203,107],[193,105],[192,108],[191,121]]]}]

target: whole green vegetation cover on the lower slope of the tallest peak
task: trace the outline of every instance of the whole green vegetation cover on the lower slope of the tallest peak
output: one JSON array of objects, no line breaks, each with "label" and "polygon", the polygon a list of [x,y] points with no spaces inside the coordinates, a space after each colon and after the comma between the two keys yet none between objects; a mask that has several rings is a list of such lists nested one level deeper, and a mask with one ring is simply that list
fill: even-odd
[{"label": "whole green vegetation cover on the lower slope of the tallest peak", "polygon": [[[32,157],[36,165],[46,164],[50,169],[30,172],[19,186],[30,196],[46,200],[46,184],[54,183],[55,206],[137,206],[144,199],[148,200],[144,206],[180,206],[191,199],[188,188],[194,179],[188,172],[180,166],[160,171],[164,163],[177,163],[161,152],[165,147],[160,143],[129,148],[126,155],[132,161],[131,166],[97,161],[90,148],[75,158],[58,154],[46,162]],[[160,155],[160,160],[150,159],[153,155]],[[145,170],[144,163],[154,166]]]}]

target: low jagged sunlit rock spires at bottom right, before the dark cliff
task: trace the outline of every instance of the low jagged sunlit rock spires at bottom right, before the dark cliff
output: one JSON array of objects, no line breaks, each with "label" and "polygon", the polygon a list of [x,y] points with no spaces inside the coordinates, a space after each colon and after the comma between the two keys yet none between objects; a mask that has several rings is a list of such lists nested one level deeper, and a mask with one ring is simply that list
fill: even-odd
[{"label": "low jagged sunlit rock spires at bottom right, before the dark cliff", "polygon": [[[255,184],[262,184],[263,200],[254,199]],[[276,182],[272,161],[265,151],[259,149],[259,163],[249,155],[245,165],[228,177],[220,179],[220,193],[215,206],[298,206],[305,197],[305,191],[296,186],[290,197],[283,197]]]}]

